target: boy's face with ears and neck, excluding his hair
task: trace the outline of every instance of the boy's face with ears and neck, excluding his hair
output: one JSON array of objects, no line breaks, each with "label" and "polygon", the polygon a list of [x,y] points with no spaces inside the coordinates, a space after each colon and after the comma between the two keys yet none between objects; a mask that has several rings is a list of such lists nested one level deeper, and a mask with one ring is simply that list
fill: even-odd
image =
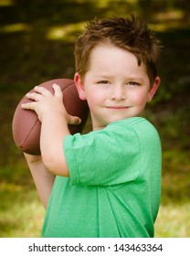
[{"label": "boy's face with ears and neck, excluding his hair", "polygon": [[99,45],[90,54],[90,67],[83,80],[75,75],[79,97],[90,107],[93,130],[109,123],[141,115],[151,101],[159,78],[150,85],[146,67],[138,66],[129,51],[111,45]]}]

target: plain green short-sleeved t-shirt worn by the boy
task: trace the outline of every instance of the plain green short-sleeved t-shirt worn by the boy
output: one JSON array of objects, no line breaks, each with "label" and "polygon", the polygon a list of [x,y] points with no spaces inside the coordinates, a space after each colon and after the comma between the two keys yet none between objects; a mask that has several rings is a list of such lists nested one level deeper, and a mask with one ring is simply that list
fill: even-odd
[{"label": "plain green short-sleeved t-shirt worn by the boy", "polygon": [[70,176],[56,177],[43,237],[153,237],[161,144],[151,123],[132,117],[68,135],[64,153]]}]

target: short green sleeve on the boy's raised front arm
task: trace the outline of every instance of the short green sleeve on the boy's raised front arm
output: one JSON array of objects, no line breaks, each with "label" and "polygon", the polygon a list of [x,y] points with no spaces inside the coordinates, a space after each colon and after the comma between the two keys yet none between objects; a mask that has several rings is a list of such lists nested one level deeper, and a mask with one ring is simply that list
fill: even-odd
[{"label": "short green sleeve on the boy's raised front arm", "polygon": [[68,135],[64,154],[71,185],[113,186],[140,174],[139,139],[131,127],[111,123],[100,131]]}]

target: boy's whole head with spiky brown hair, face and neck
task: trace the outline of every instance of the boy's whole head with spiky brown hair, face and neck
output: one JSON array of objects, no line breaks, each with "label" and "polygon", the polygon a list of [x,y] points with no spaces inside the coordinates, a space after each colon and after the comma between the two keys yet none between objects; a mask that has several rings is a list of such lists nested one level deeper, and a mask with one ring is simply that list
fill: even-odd
[{"label": "boy's whole head with spiky brown hair, face and neck", "polygon": [[158,40],[131,19],[95,20],[76,42],[75,83],[87,100],[93,130],[140,116],[160,84]]}]

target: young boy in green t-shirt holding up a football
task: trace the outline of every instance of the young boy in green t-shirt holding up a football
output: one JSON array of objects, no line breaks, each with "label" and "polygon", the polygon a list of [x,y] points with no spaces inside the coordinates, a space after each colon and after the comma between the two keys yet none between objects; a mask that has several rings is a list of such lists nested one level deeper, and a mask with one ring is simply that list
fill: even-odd
[{"label": "young boy in green t-shirt holding up a football", "polygon": [[47,207],[43,237],[153,237],[161,144],[141,115],[160,84],[159,42],[134,16],[86,28],[76,42],[74,80],[93,131],[69,134],[68,124],[80,120],[66,112],[56,84],[54,95],[36,87],[23,105],[42,123],[41,156],[26,161]]}]

